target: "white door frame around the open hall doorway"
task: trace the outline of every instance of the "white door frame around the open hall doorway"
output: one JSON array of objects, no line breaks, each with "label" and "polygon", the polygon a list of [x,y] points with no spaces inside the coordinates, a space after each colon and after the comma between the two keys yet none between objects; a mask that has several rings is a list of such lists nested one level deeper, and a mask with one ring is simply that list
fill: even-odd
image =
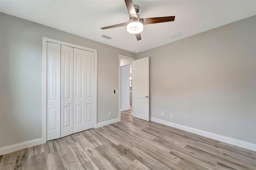
[{"label": "white door frame around the open hall doorway", "polygon": [[[132,61],[136,60],[136,58],[132,58],[132,57],[127,57],[124,55],[118,55],[118,121],[121,121],[121,59],[126,59],[126,60],[131,60]],[[127,64],[127,65],[130,65]],[[125,65],[122,65],[125,66]],[[133,93],[132,93],[133,95]],[[132,105],[133,105],[133,101],[132,101]]]}]

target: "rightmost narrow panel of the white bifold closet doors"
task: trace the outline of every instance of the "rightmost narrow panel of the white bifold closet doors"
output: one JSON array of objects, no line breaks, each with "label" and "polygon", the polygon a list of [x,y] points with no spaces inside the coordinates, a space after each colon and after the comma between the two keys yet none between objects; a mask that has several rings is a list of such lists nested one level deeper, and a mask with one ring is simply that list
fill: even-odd
[{"label": "rightmost narrow panel of the white bifold closet doors", "polygon": [[85,51],[86,65],[86,124],[85,130],[93,128],[94,115],[94,52]]}]

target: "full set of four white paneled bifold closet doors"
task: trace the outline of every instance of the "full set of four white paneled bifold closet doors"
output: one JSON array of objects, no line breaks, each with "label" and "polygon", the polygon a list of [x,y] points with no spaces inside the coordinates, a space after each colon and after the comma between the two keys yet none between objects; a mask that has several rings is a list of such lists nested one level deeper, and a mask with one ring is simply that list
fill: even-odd
[{"label": "full set of four white paneled bifold closet doors", "polygon": [[94,128],[94,52],[47,43],[47,140]]}]

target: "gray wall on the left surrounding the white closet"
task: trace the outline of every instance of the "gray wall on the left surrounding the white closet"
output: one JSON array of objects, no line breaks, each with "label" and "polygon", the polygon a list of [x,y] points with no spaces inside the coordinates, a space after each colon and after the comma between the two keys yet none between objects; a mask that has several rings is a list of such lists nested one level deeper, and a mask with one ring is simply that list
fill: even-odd
[{"label": "gray wall on the left surrounding the white closet", "polygon": [[118,55],[135,53],[0,13],[0,147],[41,138],[42,36],[98,50],[98,123],[118,118]]}]

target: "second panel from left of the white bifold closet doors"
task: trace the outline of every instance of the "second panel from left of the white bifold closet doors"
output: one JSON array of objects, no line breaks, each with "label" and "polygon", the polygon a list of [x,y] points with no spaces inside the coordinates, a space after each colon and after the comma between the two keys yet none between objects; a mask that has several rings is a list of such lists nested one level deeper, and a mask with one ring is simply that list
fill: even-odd
[{"label": "second panel from left of the white bifold closet doors", "polygon": [[60,136],[73,134],[73,48],[61,45]]}]

